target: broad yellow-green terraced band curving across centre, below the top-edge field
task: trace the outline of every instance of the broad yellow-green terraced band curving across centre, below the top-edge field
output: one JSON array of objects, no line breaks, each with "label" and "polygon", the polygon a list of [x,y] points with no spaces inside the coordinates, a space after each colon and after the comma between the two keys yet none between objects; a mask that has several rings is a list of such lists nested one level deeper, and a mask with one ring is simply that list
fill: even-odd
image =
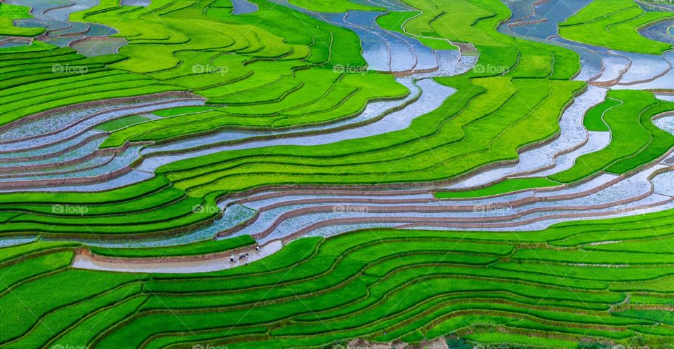
[{"label": "broad yellow-green terraced band curving across centre, below the top-edge field", "polygon": [[[503,78],[485,79],[484,82],[480,81],[480,84],[488,88],[496,88],[497,84],[501,84],[505,88],[519,89],[520,97],[509,100],[503,106],[498,104],[499,100],[490,98],[490,104],[484,103],[484,105],[491,107],[493,103],[494,108],[498,109],[493,114],[489,109],[481,110],[484,105],[480,102],[471,103],[470,107],[475,107],[477,111],[473,111],[470,107],[461,111],[461,114],[455,115],[450,122],[442,125],[441,131],[436,134],[437,137],[421,142],[405,142],[405,139],[407,137],[418,139],[420,135],[432,132],[433,129],[425,127],[425,124],[432,121],[435,116],[445,118],[447,113],[442,112],[442,109],[417,118],[408,130],[378,135],[370,139],[341,142],[338,148],[329,144],[314,146],[310,149],[288,146],[275,147],[273,151],[270,149],[232,151],[174,163],[171,167],[160,168],[159,172],[173,172],[169,178],[178,182],[176,186],[197,196],[206,195],[214,190],[222,190],[223,193],[239,191],[244,189],[240,187],[242,184],[248,189],[263,183],[267,185],[286,184],[298,181],[308,184],[318,182],[322,184],[381,183],[383,181],[381,173],[385,165],[393,162],[397,163],[400,168],[404,168],[405,172],[385,171],[387,175],[384,182],[419,182],[452,177],[465,173],[477,165],[486,165],[497,159],[515,158],[515,149],[553,135],[558,129],[556,123],[559,117],[558,111],[571,98],[575,90],[581,87],[580,83],[567,81],[550,84],[542,80],[526,79],[511,82]],[[508,93],[508,90],[502,89],[501,91]],[[462,93],[457,93],[447,100],[447,105],[456,105],[455,97],[463,96]],[[508,100],[509,96],[503,97]],[[541,105],[532,111],[531,103]],[[463,124],[465,128],[462,129]],[[515,126],[508,126],[511,124]],[[536,128],[538,132],[524,132],[524,130],[532,130],[531,125],[534,124],[538,125]],[[437,125],[437,123],[431,125]],[[440,135],[443,137],[439,137]],[[376,139],[382,141],[376,142]],[[348,155],[351,149],[364,151],[372,148],[378,150],[357,156]],[[410,150],[417,153],[410,154]],[[312,157],[302,158],[299,163],[283,164],[288,162],[286,156],[296,157],[295,154],[298,151],[303,153],[311,151]],[[434,154],[432,159],[421,160],[426,158],[429,151]],[[262,153],[264,153],[264,158],[257,155]],[[346,154],[341,155],[344,153]],[[442,155],[438,156],[439,154]],[[227,158],[231,160],[227,161]],[[208,163],[211,165],[206,166]],[[263,163],[266,164],[263,165]],[[315,170],[312,167],[324,164],[332,164],[333,167],[322,168],[323,175],[319,177],[314,175]],[[178,172],[181,167],[187,171]],[[344,170],[348,170],[348,176],[341,174]],[[244,173],[246,174],[245,183],[232,181],[232,178],[244,175]]]}]

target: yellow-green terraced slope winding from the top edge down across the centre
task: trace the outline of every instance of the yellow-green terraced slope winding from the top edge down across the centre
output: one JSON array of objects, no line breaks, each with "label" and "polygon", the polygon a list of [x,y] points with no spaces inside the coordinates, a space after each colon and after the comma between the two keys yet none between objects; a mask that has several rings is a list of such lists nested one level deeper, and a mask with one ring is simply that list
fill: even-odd
[{"label": "yellow-green terraced slope winding from the top edge down across the centre", "polygon": [[[454,115],[451,121],[444,123],[442,116],[437,115],[438,113],[431,113],[416,119],[410,130],[370,137],[369,139],[345,141],[341,142],[338,147],[328,145],[305,149],[288,146],[233,151],[186,160],[172,165],[171,169],[160,169],[159,172],[167,173],[167,175],[169,173],[166,171],[176,172],[169,175],[171,180],[180,181],[178,184],[180,188],[190,191],[192,195],[201,196],[216,189],[222,190],[223,193],[244,189],[230,186],[230,184],[238,182],[232,182],[231,180],[233,176],[238,176],[237,172],[246,172],[246,188],[262,184],[291,182],[322,184],[381,183],[443,179],[471,170],[476,165],[487,164],[497,159],[514,158],[514,150],[517,147],[555,132],[556,127],[552,120],[556,120],[558,114],[555,115],[554,111],[559,111],[562,104],[569,100],[571,93],[581,88],[581,84],[567,81],[555,81],[550,84],[546,80],[536,81],[536,79],[510,81],[507,77],[512,75],[518,78],[533,76],[569,78],[577,71],[577,56],[551,46],[517,41],[509,36],[496,33],[494,27],[499,20],[507,17],[507,8],[495,2],[475,1],[475,3],[477,4],[466,3],[467,11],[461,12],[461,17],[455,18],[454,16],[459,14],[454,12],[440,15],[433,22],[438,29],[433,30],[437,32],[437,35],[449,39],[463,39],[476,43],[477,48],[482,52],[480,62],[484,62],[481,63],[484,65],[494,66],[496,62],[503,64],[504,60],[505,62],[512,62],[510,64],[515,64],[519,53],[522,53],[522,57],[520,64],[517,64],[515,69],[506,74],[506,78],[487,78],[485,75],[489,74],[473,72],[470,75],[475,76],[475,78],[469,81],[460,78],[439,79],[442,83],[459,88],[459,93],[450,97],[450,100],[445,104],[446,107],[439,110],[442,111],[443,116]],[[425,6],[422,3],[411,5],[422,8]],[[456,6],[456,4],[441,2],[436,6],[442,9],[441,6],[451,7]],[[471,11],[468,11],[468,9]],[[423,8],[423,10],[426,11],[427,8]],[[473,27],[473,22],[480,18],[487,19],[480,20],[477,22],[477,27]],[[422,21],[422,16],[411,20],[408,23],[408,29],[415,34],[417,32],[428,34],[424,31],[425,29],[419,29],[419,22]],[[558,55],[554,67],[553,60],[550,59],[552,55],[555,55],[555,57]],[[548,57],[547,65],[546,60],[541,60],[541,57]],[[543,62],[543,64],[536,62]],[[538,71],[531,67],[536,67]],[[479,78],[480,76],[485,77]],[[510,101],[508,95],[496,95],[495,91],[490,90],[491,86],[501,86],[501,89],[506,88],[506,90],[510,89],[511,91],[513,91],[512,88],[515,88],[522,95],[522,98],[515,98]],[[482,88],[486,88],[486,92],[480,91]],[[546,90],[548,90],[546,95],[540,94],[545,93]],[[451,113],[448,113],[447,107],[450,105],[465,104],[468,102],[466,98],[472,99],[473,97],[476,98],[471,100],[469,109],[465,111],[458,109],[457,114],[456,109],[451,108],[449,109]],[[490,102],[487,103],[487,100]],[[521,104],[522,100],[529,100],[534,105],[532,106],[531,103]],[[536,103],[544,104],[546,107],[536,109],[533,114],[529,113],[532,107],[536,107]],[[503,109],[508,111],[508,113],[504,112],[503,114],[510,116],[510,118],[501,118],[500,112],[492,114],[491,104],[496,104],[494,105],[496,108],[501,104],[504,107]],[[508,104],[508,108],[505,107],[505,104]],[[547,110],[548,113],[543,113],[543,109]],[[517,128],[511,128],[510,126],[511,123],[515,123],[517,118],[528,120],[520,122],[518,127],[524,127],[527,122],[534,122],[535,118],[540,118],[539,122],[546,120],[543,123],[550,125],[550,128],[539,128],[540,133],[538,134],[532,134],[529,131],[527,137],[515,139],[514,132]],[[442,125],[437,131],[428,129],[428,125],[438,125],[439,122]],[[461,128],[465,129],[456,132]],[[434,137],[425,137],[425,135],[432,134],[429,131],[435,132]],[[498,136],[504,131],[503,135]],[[511,135],[513,137],[510,137]],[[423,141],[419,139],[420,136]],[[499,139],[498,142],[495,142],[494,137],[497,136]],[[423,143],[423,149],[421,143]],[[404,149],[400,149],[399,145],[403,144]],[[491,144],[498,144],[498,151]],[[422,158],[428,158],[428,155],[430,155],[428,148],[431,148],[433,153],[430,163],[428,163],[428,160],[426,162],[421,160]],[[349,154],[350,149],[359,149],[358,156],[351,156]],[[438,150],[441,149],[442,151],[439,153]],[[258,153],[265,153],[265,157],[260,158],[257,156]],[[291,154],[307,154],[307,156],[298,158],[298,156],[292,156]],[[439,154],[442,155],[438,156]],[[291,160],[291,158],[301,160],[295,164],[296,161]],[[369,158],[376,159],[376,163],[374,161],[370,163]],[[398,163],[399,167],[405,168],[406,171],[383,175],[380,171],[375,170],[375,168],[381,169],[382,164],[385,164],[389,159]],[[442,160],[442,163],[440,163],[440,160]],[[404,165],[401,165],[401,162]],[[284,163],[291,164],[282,165]],[[329,165],[329,167],[326,167],[326,165]],[[311,175],[311,172],[315,171],[311,167],[317,166],[321,167],[319,177]],[[204,170],[199,170],[199,167],[204,167]],[[232,168],[232,170],[228,170],[229,168]],[[238,170],[233,170],[234,168],[238,168]],[[178,170],[183,170],[183,173],[178,172]],[[345,176],[345,173],[348,173],[348,175]],[[220,178],[224,179],[225,177],[229,179],[220,181]]]}]

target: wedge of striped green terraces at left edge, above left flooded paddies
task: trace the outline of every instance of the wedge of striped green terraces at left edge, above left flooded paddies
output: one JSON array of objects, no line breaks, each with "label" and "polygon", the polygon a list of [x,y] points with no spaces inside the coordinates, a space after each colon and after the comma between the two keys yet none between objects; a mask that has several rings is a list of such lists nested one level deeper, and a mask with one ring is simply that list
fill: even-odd
[{"label": "wedge of striped green terraces at left edge, above left flooded paddies", "polygon": [[[27,52],[0,49],[0,81],[4,95],[0,104],[0,124],[70,104],[184,90],[107,67],[125,58],[124,55],[84,57],[70,48],[39,43],[29,46]],[[55,64],[86,67],[86,74],[60,73],[53,70]],[[102,75],[106,77],[101,78]],[[90,79],[98,81],[95,89],[91,88]],[[55,89],[56,86],[61,88]]]}]

